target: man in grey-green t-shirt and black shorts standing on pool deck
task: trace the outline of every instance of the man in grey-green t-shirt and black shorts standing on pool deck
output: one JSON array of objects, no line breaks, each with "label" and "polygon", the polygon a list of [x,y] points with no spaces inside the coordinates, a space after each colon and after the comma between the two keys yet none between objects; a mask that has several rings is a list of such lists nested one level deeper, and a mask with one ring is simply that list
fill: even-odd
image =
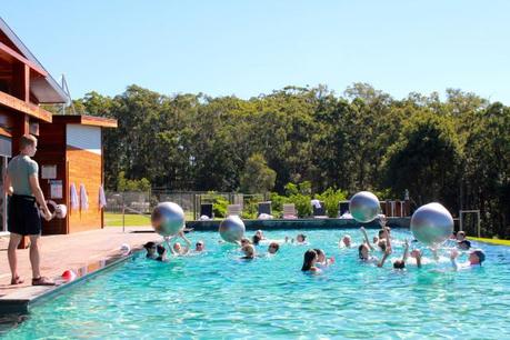
[{"label": "man in grey-green t-shirt and black shorts standing on pool deck", "polygon": [[4,190],[11,196],[8,211],[8,230],[10,231],[8,258],[11,269],[11,284],[23,281],[18,274],[18,259],[16,249],[22,237],[30,238],[30,263],[32,264],[32,284],[52,286],[48,278],[41,277],[39,237],[41,236],[41,218],[37,203],[41,207],[44,219],[50,220],[51,213],[39,187],[39,166],[31,159],[37,151],[37,139],[26,134],[20,138],[20,154],[14,157],[7,168]]}]

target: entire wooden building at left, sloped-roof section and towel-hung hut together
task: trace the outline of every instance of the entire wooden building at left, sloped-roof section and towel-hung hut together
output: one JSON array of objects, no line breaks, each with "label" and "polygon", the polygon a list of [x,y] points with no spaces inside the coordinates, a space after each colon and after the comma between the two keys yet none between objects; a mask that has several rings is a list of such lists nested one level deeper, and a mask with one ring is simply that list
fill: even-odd
[{"label": "entire wooden building at left, sloped-roof section and towel-hung hut together", "polygon": [[[19,138],[39,139],[39,162],[44,196],[69,207],[68,217],[43,223],[43,233],[69,233],[103,227],[99,188],[103,179],[102,128],[117,127],[111,119],[53,116],[40,104],[66,103],[66,92],[0,18],[0,168],[19,152]],[[3,176],[0,177],[3,184]],[[71,209],[71,184],[78,208]],[[88,200],[80,199],[80,187]],[[7,197],[0,192],[0,232],[7,231]],[[60,197],[60,198],[59,198]],[[74,204],[76,206],[76,204]]]}]

